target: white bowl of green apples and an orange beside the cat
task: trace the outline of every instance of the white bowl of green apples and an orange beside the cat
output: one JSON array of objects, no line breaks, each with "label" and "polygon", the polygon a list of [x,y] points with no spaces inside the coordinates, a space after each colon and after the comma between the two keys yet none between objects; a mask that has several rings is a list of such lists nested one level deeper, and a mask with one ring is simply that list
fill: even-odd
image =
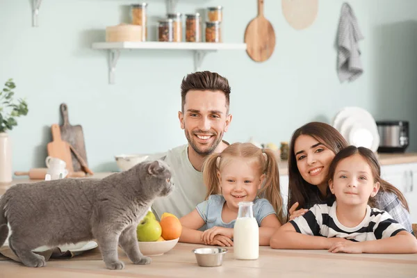
[{"label": "white bowl of green apples and an orange beside the cat", "polygon": [[163,213],[161,218],[158,222],[154,213],[149,211],[138,224],[139,249],[145,256],[161,255],[172,250],[181,236],[181,222],[175,215]]}]

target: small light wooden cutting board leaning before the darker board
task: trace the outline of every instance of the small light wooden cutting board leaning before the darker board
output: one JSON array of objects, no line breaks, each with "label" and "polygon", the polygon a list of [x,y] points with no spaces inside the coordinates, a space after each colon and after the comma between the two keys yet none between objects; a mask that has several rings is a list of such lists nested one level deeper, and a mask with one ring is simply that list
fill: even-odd
[{"label": "small light wooden cutting board leaning before the darker board", "polygon": [[68,172],[74,172],[70,144],[62,140],[58,124],[52,124],[51,132],[52,142],[49,142],[47,145],[48,155],[65,161],[65,163],[67,163]]}]

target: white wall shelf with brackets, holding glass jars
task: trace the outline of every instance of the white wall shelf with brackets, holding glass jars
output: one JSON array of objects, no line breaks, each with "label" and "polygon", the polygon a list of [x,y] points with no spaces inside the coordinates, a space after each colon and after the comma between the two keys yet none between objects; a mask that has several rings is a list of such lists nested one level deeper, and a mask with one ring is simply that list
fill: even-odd
[{"label": "white wall shelf with brackets, holding glass jars", "polygon": [[197,72],[207,52],[218,50],[246,50],[246,44],[222,42],[94,42],[92,49],[108,50],[109,83],[113,84],[117,59],[120,56],[120,51],[123,49],[191,50],[194,51],[194,70]]}]

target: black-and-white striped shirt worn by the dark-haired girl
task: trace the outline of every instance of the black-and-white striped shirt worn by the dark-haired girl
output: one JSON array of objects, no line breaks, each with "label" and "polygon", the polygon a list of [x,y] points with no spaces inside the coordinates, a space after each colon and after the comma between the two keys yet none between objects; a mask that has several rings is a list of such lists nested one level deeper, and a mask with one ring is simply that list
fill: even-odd
[{"label": "black-and-white striped shirt worn by the dark-haired girl", "polygon": [[366,206],[366,215],[356,227],[345,227],[338,221],[336,201],[329,204],[316,204],[304,215],[290,221],[295,231],[309,236],[327,238],[346,238],[352,241],[377,240],[395,236],[406,231],[401,224],[393,220],[386,211]]}]

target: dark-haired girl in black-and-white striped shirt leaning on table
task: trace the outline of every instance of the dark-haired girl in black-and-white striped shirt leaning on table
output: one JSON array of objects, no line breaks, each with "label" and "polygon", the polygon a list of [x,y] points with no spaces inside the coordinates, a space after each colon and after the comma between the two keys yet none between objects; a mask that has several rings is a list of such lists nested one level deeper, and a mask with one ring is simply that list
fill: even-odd
[{"label": "dark-haired girl in black-and-white striped shirt leaning on table", "polygon": [[329,167],[327,204],[316,204],[272,236],[276,249],[326,249],[345,253],[417,253],[417,239],[386,211],[373,208],[381,179],[375,154],[346,147]]}]

